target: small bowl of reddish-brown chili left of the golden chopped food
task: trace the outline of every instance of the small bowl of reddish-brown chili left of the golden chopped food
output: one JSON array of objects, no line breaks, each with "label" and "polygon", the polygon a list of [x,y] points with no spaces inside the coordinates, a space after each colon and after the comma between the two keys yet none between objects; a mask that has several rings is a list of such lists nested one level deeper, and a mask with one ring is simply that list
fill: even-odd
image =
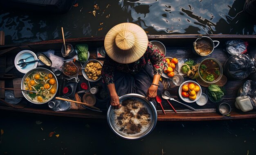
[{"label": "small bowl of reddish-brown chili left of the golden chopped food", "polygon": [[78,67],[73,63],[73,61],[66,62],[62,66],[62,72],[65,76],[73,78],[78,75]]}]

